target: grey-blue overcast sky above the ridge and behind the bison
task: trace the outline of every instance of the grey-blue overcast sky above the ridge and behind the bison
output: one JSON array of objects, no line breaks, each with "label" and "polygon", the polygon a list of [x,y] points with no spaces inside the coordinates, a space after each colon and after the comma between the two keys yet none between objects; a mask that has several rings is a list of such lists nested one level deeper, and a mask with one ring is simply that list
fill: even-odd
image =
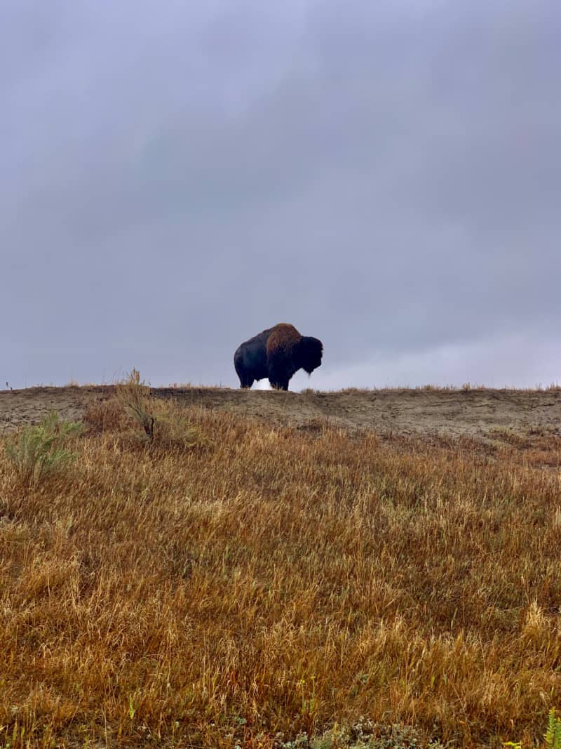
[{"label": "grey-blue overcast sky above the ridge and behind the bison", "polygon": [[559,0],[2,0],[0,386],[561,380]]}]

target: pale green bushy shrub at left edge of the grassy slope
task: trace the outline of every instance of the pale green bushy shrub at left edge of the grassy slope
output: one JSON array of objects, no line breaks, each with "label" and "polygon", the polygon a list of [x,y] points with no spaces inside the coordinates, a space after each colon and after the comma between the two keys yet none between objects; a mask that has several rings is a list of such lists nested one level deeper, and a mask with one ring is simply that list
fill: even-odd
[{"label": "pale green bushy shrub at left edge of the grassy slope", "polygon": [[80,422],[61,422],[52,411],[40,424],[25,426],[4,442],[7,458],[22,484],[37,485],[46,476],[58,473],[76,458],[64,445],[82,431]]}]

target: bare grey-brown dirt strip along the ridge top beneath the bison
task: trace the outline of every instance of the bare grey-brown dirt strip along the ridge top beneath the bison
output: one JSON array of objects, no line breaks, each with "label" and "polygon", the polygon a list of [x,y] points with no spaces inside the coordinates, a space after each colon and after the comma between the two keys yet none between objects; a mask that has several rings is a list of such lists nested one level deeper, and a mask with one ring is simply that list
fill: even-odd
[{"label": "bare grey-brown dirt strip along the ridge top beneath the bison", "polygon": [[[0,392],[0,434],[37,422],[50,410],[78,419],[113,386],[34,387]],[[379,433],[493,437],[499,431],[561,433],[561,390],[387,389],[342,392],[248,391],[215,387],[157,388],[184,404],[229,410],[275,424],[327,419],[346,429]]]}]

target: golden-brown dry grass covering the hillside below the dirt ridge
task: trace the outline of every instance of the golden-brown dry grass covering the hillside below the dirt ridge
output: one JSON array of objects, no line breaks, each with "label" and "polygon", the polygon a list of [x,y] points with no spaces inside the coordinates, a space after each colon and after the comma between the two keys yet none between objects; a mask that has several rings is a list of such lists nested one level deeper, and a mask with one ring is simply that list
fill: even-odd
[{"label": "golden-brown dry grass covering the hillside below the dirt ridge", "polygon": [[169,449],[109,402],[64,476],[20,488],[0,452],[0,745],[271,747],[361,716],[542,736],[559,437],[486,452],[194,409],[203,445]]}]

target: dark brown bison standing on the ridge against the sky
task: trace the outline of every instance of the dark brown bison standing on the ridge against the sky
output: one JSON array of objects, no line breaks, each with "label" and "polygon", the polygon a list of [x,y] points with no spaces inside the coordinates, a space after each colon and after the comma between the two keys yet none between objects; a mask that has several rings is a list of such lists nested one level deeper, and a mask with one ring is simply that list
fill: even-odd
[{"label": "dark brown bison standing on the ridge against the sky", "polygon": [[322,342],[301,336],[293,325],[279,323],[240,344],[234,354],[234,367],[240,387],[251,387],[254,380],[269,377],[272,387],[288,390],[298,369],[311,375],[322,363]]}]

